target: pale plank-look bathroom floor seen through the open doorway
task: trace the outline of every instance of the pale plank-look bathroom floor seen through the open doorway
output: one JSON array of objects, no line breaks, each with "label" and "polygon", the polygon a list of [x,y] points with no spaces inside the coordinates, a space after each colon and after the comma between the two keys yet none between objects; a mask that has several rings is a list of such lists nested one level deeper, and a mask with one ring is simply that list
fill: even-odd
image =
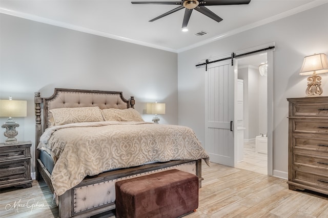
[{"label": "pale plank-look bathroom floor seen through the open doorway", "polygon": [[268,175],[268,155],[255,152],[255,142],[245,142],[243,160],[236,167]]}]

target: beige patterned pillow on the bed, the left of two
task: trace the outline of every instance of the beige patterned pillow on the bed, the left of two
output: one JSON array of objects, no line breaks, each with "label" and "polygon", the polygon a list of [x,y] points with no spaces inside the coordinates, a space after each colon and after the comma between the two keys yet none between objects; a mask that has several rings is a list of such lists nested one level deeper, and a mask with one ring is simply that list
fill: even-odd
[{"label": "beige patterned pillow on the bed, the left of two", "polygon": [[49,112],[52,114],[55,126],[104,121],[99,107],[55,108]]}]

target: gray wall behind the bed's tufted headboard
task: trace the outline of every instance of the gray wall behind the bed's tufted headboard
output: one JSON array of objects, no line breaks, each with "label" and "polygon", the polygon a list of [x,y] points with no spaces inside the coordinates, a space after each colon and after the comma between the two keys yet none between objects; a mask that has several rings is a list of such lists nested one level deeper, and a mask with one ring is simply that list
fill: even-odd
[{"label": "gray wall behind the bed's tufted headboard", "polygon": [[[10,15],[0,20],[0,98],[28,101],[28,116],[15,118],[18,140],[34,143],[34,92],[48,97],[55,87],[122,91],[135,96],[141,114],[157,100],[166,103],[160,123],[178,124],[176,53]],[[151,122],[153,115],[142,116]]]}]

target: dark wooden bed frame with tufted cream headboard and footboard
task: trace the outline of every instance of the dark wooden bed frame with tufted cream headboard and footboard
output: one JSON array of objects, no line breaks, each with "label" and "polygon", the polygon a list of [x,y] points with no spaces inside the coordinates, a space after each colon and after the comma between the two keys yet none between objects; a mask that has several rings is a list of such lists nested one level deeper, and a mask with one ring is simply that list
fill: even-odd
[{"label": "dark wooden bed frame with tufted cream headboard and footboard", "polygon": [[[74,96],[74,98],[71,98]],[[116,98],[117,97],[117,98]],[[116,101],[116,102],[115,102]],[[100,109],[117,108],[120,109],[122,105],[125,108],[134,108],[135,100],[131,96],[126,100],[122,92],[117,91],[97,91],[97,90],[80,90],[80,89],[61,89],[55,88],[54,94],[49,98],[41,98],[40,92],[34,93],[35,103],[35,144],[39,143],[40,136],[44,130],[49,126],[48,111],[53,108],[60,107],[90,107],[98,106]],[[43,113],[42,113],[43,112]],[[36,180],[44,179],[52,192],[54,188],[51,182],[51,175],[45,165],[39,159],[40,151],[35,149],[35,167]],[[201,187],[201,160],[174,160],[169,162],[151,163],[137,167],[130,167],[125,169],[117,169],[105,173],[98,174],[92,177],[86,177],[78,185],[67,190],[63,195],[58,197],[59,217],[90,217],[99,213],[107,212],[115,209],[115,182],[122,179],[133,178],[137,176],[152,174],[168,169],[177,168],[182,171],[193,173],[199,178],[199,187]],[[98,189],[97,189],[98,188]],[[100,189],[107,190],[101,190]],[[108,202],[93,205],[90,208],[80,209],[79,206],[83,201],[90,202],[97,201],[97,198],[86,195],[83,198],[79,191],[87,190],[88,193],[108,193],[112,196],[112,200]],[[105,194],[104,194],[105,195]],[[114,199],[113,199],[114,195]],[[94,196],[93,196],[94,197]],[[110,197],[108,197],[110,198]],[[80,203],[80,201],[82,203]]]}]

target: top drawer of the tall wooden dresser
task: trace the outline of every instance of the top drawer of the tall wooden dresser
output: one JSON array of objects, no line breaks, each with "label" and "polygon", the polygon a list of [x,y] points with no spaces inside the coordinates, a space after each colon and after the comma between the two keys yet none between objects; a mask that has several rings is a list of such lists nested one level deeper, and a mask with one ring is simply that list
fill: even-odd
[{"label": "top drawer of the tall wooden dresser", "polygon": [[326,98],[306,99],[290,102],[290,116],[322,116],[328,117],[328,102]]}]

